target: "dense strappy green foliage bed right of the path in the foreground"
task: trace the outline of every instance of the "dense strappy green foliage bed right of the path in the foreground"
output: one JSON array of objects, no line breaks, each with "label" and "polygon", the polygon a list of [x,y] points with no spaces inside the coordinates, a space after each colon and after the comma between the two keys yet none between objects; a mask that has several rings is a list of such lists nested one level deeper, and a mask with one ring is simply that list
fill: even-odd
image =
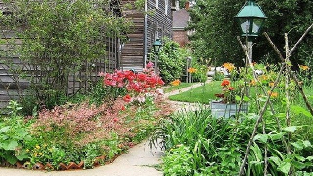
[{"label": "dense strappy green foliage bed right of the path in the foreground", "polygon": [[[238,121],[213,118],[210,109],[199,106],[196,111],[183,110],[162,119],[151,138],[151,144],[162,145],[166,149],[163,157],[164,175],[238,175],[257,117],[257,114],[250,113],[240,115]],[[312,156],[302,155],[303,149],[312,149],[311,143],[290,139],[292,152],[287,154],[281,141],[282,137],[288,138],[288,132],[297,131],[300,127],[288,127],[279,132],[273,116],[267,114],[265,118],[265,134],[260,124],[251,146],[245,175],[264,175],[265,151],[267,173],[272,176],[312,172]]]}]

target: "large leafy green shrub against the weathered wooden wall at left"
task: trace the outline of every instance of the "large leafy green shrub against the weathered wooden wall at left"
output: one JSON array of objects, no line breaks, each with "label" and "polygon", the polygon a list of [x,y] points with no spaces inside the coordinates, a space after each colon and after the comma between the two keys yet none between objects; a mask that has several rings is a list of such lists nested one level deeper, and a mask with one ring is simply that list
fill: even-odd
[{"label": "large leafy green shrub against the weathered wooden wall at left", "polygon": [[[51,109],[67,100],[70,75],[84,71],[80,81],[91,82],[87,75],[95,71],[91,65],[106,54],[105,40],[108,37],[124,40],[131,25],[125,18],[101,8],[107,4],[107,0],[4,1],[3,5],[12,13],[1,16],[1,25],[19,31],[22,46],[15,47],[13,40],[10,42],[13,52],[3,55],[19,55],[22,64],[31,68],[23,70],[14,64],[9,67],[10,72],[19,75],[16,82],[19,79],[30,82],[29,96],[37,98],[23,101],[39,102]],[[26,102],[23,104],[27,105]],[[27,106],[28,115],[31,110]]]}]

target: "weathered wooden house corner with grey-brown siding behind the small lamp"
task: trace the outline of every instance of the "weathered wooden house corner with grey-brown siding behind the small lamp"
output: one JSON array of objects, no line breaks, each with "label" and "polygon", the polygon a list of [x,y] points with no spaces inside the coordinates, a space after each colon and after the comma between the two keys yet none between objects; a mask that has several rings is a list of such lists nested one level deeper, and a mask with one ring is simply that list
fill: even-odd
[{"label": "weathered wooden house corner with grey-brown siding behind the small lamp", "polygon": [[[122,4],[133,5],[136,0],[122,0]],[[145,15],[136,10],[123,11],[123,15],[133,22],[132,32],[128,34],[129,42],[124,44],[121,56],[121,68],[135,69],[142,71],[146,64],[146,56],[150,52],[156,38],[172,38],[172,2],[167,0],[167,15],[165,14],[166,0],[159,0],[156,8],[156,0],[147,0],[147,12],[154,12],[152,15]],[[157,36],[156,36],[157,35]],[[146,38],[146,39],[145,39]]]}]

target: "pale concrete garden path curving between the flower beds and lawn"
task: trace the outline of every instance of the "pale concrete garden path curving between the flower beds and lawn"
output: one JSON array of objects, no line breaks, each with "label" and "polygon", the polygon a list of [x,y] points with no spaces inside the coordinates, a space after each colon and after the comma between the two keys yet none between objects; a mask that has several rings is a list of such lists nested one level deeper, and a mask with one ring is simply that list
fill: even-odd
[{"label": "pale concrete garden path curving between the flower beds and lawn", "polygon": [[[208,80],[210,82],[211,80]],[[202,86],[203,83],[194,84],[192,87],[182,88],[181,92],[191,88]],[[172,91],[165,94],[165,97],[179,94],[179,91]],[[195,110],[196,103],[184,103],[169,101],[179,111],[182,109]],[[88,170],[73,171],[32,171],[25,169],[0,168],[0,176],[163,176],[154,166],[161,163],[163,152],[159,148],[150,150],[146,142],[129,149],[128,153],[118,156],[114,162]]]}]

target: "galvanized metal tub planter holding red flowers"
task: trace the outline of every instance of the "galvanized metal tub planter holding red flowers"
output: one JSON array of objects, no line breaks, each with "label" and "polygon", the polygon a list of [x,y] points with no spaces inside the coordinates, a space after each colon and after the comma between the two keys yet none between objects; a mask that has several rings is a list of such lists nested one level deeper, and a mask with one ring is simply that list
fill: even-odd
[{"label": "galvanized metal tub planter holding red flowers", "polygon": [[[235,103],[220,103],[217,101],[211,101],[211,112],[212,117],[223,117],[225,119],[230,118],[232,115],[235,115],[239,110],[239,104]],[[248,113],[249,104],[242,104],[240,112]]]}]

